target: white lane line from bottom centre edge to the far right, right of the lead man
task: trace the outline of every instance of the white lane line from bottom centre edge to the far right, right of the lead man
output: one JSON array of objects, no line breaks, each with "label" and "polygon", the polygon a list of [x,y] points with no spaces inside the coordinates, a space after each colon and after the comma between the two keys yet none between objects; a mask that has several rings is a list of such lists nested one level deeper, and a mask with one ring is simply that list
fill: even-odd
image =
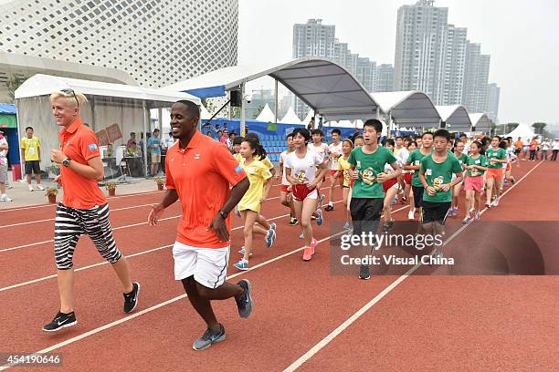
[{"label": "white lane line from bottom centre edge to the far right, right of the lead man", "polygon": [[[539,163],[538,165],[533,167],[533,169],[528,171],[526,174],[524,174],[524,176],[522,176],[522,178],[518,182],[514,183],[514,185],[512,185],[509,189],[507,189],[507,191],[503,192],[502,195],[501,195],[501,198],[502,198],[502,196],[506,195],[507,192],[511,191],[516,185],[518,185],[524,178],[526,178],[526,176],[528,176],[530,173],[532,173],[533,170],[535,170],[540,164],[542,164],[542,163]],[[483,211],[481,211],[480,214],[483,214],[483,212],[486,212],[486,211],[488,211],[487,208],[485,208]],[[450,235],[450,237],[448,237],[448,240],[445,243],[443,243],[443,246],[450,243],[455,237],[457,237],[459,235],[459,233],[463,232],[468,226],[469,226],[469,224],[465,224],[465,225],[461,226],[456,233],[453,233],[452,235]],[[325,336],[324,338],[322,338],[322,340],[318,344],[316,344],[315,346],[312,346],[309,351],[307,351],[305,354],[300,356],[289,367],[285,368],[283,370],[283,372],[292,372],[292,371],[295,371],[297,368],[301,367],[301,365],[303,363],[305,363],[312,356],[314,356],[316,353],[318,353],[324,346],[327,346],[336,336],[339,336],[348,326],[352,325],[357,319],[359,319],[369,309],[371,309],[371,307],[373,307],[383,297],[385,297],[386,294],[389,294],[392,290],[394,290],[396,288],[396,286],[398,286],[398,284],[404,282],[409,277],[409,275],[413,274],[420,266],[421,266],[421,263],[417,263],[417,265],[410,268],[406,272],[406,274],[403,274],[400,277],[398,277],[394,282],[389,284],[380,294],[375,295],[374,298],[371,301],[369,301],[367,304],[365,304],[363,307],[361,307],[359,310],[357,310],[355,313],[353,313],[353,315],[350,316],[348,319],[346,319],[341,325],[338,325],[328,336]]]}]

